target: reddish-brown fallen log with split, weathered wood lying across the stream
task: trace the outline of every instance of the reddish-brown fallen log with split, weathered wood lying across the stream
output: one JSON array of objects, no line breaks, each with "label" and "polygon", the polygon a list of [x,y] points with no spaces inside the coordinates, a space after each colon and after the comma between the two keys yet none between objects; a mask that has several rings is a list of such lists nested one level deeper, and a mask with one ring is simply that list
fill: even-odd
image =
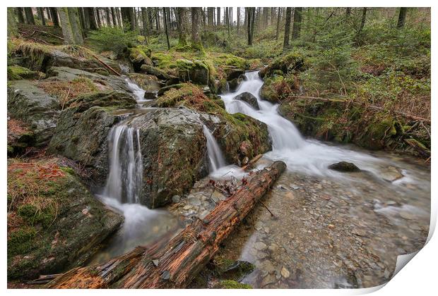
[{"label": "reddish-brown fallen log with split, weathered wood lying across the stream", "polygon": [[67,271],[47,288],[185,288],[254,205],[270,190],[286,165],[276,161],[254,173],[246,185],[195,220],[165,247],[136,247],[120,257]]}]

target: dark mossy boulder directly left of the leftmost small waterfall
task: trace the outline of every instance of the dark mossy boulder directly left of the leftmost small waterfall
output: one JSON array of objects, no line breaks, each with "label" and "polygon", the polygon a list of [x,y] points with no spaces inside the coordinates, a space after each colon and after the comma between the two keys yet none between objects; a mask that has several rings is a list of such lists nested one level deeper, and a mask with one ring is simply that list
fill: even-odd
[{"label": "dark mossy boulder directly left of the leftmost small waterfall", "polygon": [[48,151],[78,161],[93,171],[98,185],[108,170],[107,136],[122,120],[120,109],[134,109],[136,101],[123,92],[96,92],[73,99],[64,106]]}]

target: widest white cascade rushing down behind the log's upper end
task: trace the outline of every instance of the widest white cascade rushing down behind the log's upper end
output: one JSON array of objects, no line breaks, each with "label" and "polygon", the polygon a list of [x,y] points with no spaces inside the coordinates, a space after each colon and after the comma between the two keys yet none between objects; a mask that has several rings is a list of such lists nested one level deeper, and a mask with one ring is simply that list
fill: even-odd
[{"label": "widest white cascade rushing down behind the log's upper end", "polygon": [[[229,113],[244,113],[268,125],[272,140],[272,151],[265,154],[268,159],[285,161],[289,171],[300,171],[312,175],[341,176],[341,173],[327,168],[338,161],[350,161],[363,170],[379,174],[377,164],[381,160],[374,156],[329,146],[316,140],[305,140],[295,125],[280,116],[278,104],[271,104],[261,99],[260,90],[263,80],[259,78],[259,72],[248,72],[245,75],[247,79],[239,85],[236,92],[223,94],[221,97]],[[234,99],[242,92],[253,94],[259,103],[260,110]]]}]

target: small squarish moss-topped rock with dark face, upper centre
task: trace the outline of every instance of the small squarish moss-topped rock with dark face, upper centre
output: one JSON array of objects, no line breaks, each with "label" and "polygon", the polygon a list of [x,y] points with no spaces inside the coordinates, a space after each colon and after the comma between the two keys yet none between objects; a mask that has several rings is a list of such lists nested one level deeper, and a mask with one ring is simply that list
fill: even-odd
[{"label": "small squarish moss-topped rock with dark face, upper centre", "polygon": [[193,82],[199,85],[208,85],[208,66],[203,61],[189,61],[180,59],[177,61],[178,77],[183,82]]}]

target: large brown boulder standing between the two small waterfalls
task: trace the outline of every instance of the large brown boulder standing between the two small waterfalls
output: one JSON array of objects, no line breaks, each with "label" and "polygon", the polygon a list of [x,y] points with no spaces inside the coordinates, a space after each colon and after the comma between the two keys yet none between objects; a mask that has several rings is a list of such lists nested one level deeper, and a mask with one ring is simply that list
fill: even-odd
[{"label": "large brown boulder standing between the two small waterfalls", "polygon": [[199,114],[189,109],[154,109],[124,124],[140,133],[143,162],[141,204],[153,209],[188,192],[208,173],[206,138]]}]

